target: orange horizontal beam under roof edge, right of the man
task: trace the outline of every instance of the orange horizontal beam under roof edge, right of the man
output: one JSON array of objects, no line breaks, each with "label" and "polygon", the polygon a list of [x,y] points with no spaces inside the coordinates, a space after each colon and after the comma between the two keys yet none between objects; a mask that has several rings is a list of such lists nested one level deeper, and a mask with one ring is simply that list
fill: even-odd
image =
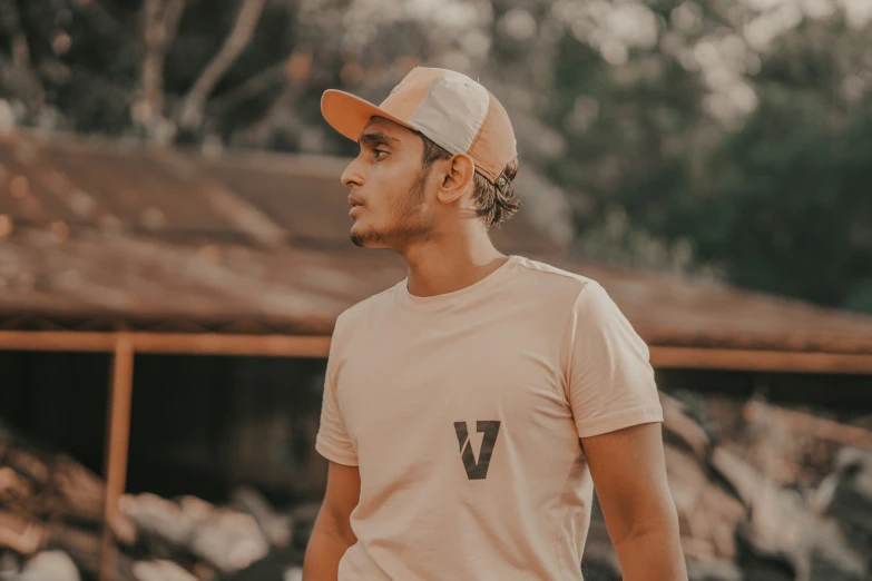
[{"label": "orange horizontal beam under roof edge, right of the man", "polygon": [[872,374],[872,355],[788,351],[650,347],[657,368]]}]

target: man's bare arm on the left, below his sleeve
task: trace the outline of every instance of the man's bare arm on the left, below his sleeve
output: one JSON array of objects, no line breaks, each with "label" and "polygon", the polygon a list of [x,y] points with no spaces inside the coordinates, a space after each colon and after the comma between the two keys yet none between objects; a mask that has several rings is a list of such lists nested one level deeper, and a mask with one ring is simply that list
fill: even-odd
[{"label": "man's bare arm on the left, below his sleeve", "polygon": [[351,530],[351,511],[361,496],[357,466],[330,463],[324,503],[315,519],[303,562],[303,581],[336,581],[339,562],[357,542]]}]

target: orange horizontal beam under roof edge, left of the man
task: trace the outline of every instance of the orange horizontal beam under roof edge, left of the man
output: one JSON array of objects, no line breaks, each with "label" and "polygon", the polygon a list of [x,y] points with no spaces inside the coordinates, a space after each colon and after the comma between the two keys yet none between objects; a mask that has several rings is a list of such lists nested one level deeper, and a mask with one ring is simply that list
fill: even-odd
[{"label": "orange horizontal beam under roof edge, left of the man", "polygon": [[[0,331],[0,349],[111,352],[118,333]],[[125,333],[139,353],[326,357],[330,337],[308,335],[223,335],[218,333]]]}]

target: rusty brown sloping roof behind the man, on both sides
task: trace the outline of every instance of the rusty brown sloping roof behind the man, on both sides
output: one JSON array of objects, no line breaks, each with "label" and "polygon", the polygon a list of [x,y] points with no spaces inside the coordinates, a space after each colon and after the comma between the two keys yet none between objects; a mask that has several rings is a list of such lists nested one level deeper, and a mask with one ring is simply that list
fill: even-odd
[{"label": "rusty brown sloping roof behind the man, on both sides", "polygon": [[[0,329],[330,334],[405,276],[349,242],[346,163],[0,137]],[[572,260],[523,216],[497,246],[598,280],[650,345],[872,354],[872,317]]]}]

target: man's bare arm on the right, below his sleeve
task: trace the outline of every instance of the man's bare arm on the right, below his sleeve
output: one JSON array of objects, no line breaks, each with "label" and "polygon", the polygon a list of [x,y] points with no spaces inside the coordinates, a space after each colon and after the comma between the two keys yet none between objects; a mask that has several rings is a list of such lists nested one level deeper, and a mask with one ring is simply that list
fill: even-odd
[{"label": "man's bare arm on the right, below his sleeve", "polygon": [[582,437],[624,581],[687,581],[658,422]]}]

